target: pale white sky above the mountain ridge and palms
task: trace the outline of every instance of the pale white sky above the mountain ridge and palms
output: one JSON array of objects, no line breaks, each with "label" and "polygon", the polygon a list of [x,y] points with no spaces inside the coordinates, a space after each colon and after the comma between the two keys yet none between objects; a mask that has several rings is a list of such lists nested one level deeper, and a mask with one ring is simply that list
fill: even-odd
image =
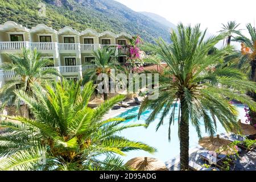
[{"label": "pale white sky above the mountain ridge and palms", "polygon": [[[241,23],[245,29],[246,23],[256,23],[256,1],[237,0],[115,0],[134,11],[147,11],[163,16],[177,24],[200,23],[202,28],[208,28],[210,34],[216,34],[221,29],[221,23],[230,20]],[[245,32],[245,31],[243,31]]]}]

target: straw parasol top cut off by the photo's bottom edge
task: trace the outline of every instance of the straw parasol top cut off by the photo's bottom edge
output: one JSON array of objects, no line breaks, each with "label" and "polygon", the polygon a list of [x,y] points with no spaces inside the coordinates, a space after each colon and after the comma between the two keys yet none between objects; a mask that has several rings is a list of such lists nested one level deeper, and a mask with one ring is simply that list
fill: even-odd
[{"label": "straw parasol top cut off by the photo's bottom edge", "polygon": [[155,158],[138,157],[129,160],[126,166],[137,171],[168,171],[166,164]]}]

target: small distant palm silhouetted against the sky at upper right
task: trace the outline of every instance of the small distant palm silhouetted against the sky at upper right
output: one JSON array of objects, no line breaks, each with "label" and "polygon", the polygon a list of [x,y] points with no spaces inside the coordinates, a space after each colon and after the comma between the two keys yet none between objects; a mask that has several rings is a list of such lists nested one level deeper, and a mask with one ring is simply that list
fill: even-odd
[{"label": "small distant palm silhouetted against the sky at upper right", "polygon": [[236,30],[237,27],[240,26],[240,23],[237,24],[236,21],[230,21],[228,24],[222,24],[222,26],[223,27],[220,32],[227,35],[226,45],[230,45],[233,34],[240,33],[240,30]]}]

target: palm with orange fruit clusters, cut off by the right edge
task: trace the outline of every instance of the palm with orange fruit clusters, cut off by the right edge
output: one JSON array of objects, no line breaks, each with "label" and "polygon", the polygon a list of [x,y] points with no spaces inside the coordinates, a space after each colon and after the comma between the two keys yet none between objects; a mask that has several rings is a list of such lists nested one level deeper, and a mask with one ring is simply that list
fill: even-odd
[{"label": "palm with orange fruit clusters, cut off by the right edge", "polygon": [[[250,38],[238,33],[238,36],[234,38],[234,41],[241,42],[245,49],[242,51],[240,63],[240,67],[243,65],[244,67],[248,67],[250,65],[250,80],[256,82],[256,31],[255,27],[251,26],[250,23],[246,24],[247,31],[249,32]],[[256,101],[256,94],[251,92],[250,96]],[[256,113],[250,111],[251,116],[251,124],[256,124]]]}]

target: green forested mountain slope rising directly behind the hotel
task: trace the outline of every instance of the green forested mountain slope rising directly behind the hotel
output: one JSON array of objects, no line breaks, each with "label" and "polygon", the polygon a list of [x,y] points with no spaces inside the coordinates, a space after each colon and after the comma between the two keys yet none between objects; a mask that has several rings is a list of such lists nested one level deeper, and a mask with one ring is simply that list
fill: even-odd
[{"label": "green forested mountain slope rising directly behind the hotel", "polygon": [[[36,7],[46,4],[46,16]],[[168,27],[113,0],[0,0],[0,24],[7,20],[31,28],[44,23],[56,30],[71,26],[78,31],[93,28],[141,35],[147,42],[161,36],[169,42]]]}]

